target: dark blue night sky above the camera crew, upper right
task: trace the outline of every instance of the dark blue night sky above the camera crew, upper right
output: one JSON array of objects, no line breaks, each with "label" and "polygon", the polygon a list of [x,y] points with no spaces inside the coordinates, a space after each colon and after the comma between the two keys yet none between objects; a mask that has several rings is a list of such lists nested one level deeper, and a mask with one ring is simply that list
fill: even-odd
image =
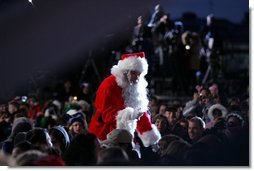
[{"label": "dark blue night sky above the camera crew, upper right", "polygon": [[240,23],[249,9],[248,0],[161,0],[172,18],[180,18],[183,12],[190,11],[205,18],[209,13],[216,17]]}]

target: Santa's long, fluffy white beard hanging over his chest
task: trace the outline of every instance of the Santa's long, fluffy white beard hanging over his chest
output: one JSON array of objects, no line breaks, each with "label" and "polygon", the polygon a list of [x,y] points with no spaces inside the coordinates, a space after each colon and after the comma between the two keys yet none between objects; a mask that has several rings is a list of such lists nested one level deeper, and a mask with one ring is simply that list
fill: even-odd
[{"label": "Santa's long, fluffy white beard hanging over his chest", "polygon": [[132,107],[139,112],[148,110],[147,81],[140,78],[137,83],[125,84],[123,98],[126,107]]}]

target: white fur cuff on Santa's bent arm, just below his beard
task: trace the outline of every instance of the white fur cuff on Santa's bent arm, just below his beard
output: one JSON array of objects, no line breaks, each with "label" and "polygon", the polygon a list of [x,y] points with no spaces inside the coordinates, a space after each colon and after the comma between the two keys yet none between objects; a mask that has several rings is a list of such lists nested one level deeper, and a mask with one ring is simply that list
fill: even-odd
[{"label": "white fur cuff on Santa's bent arm, just below his beard", "polygon": [[130,131],[134,137],[134,132],[137,127],[137,119],[131,119],[134,117],[134,109],[127,107],[123,110],[117,112],[116,116],[116,128],[117,129],[126,129]]}]

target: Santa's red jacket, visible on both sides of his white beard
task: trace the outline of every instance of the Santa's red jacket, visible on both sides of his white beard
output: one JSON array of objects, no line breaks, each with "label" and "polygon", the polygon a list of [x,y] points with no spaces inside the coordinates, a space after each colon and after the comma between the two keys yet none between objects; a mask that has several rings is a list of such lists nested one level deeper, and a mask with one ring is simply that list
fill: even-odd
[{"label": "Santa's red jacket, visible on both sides of his white beard", "polygon": [[[95,99],[96,112],[91,119],[89,132],[95,134],[100,140],[105,140],[106,135],[117,127],[117,116],[125,109],[122,97],[122,88],[116,83],[113,75],[107,77],[99,86]],[[136,130],[145,146],[156,142],[160,138],[157,129],[152,126],[147,112],[137,121]]]}]

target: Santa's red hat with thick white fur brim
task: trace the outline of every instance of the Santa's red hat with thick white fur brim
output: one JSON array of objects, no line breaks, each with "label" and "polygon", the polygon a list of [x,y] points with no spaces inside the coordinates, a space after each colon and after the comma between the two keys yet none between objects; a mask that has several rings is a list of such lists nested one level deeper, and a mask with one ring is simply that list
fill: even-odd
[{"label": "Santa's red hat with thick white fur brim", "polygon": [[[127,70],[138,71],[141,75],[146,75],[148,71],[148,63],[144,52],[122,54],[121,60],[112,68],[112,73],[124,72]],[[115,75],[115,74],[114,74]]]}]

